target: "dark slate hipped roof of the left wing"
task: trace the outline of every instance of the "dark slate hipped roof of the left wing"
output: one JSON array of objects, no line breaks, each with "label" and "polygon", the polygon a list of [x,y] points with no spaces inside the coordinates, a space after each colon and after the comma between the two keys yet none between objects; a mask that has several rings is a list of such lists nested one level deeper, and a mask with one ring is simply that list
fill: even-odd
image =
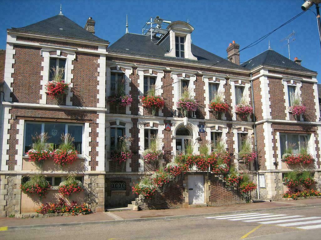
[{"label": "dark slate hipped roof of the left wing", "polygon": [[[59,28],[62,28],[62,30],[60,30]],[[70,20],[64,15],[56,15],[22,28],[12,29],[54,34],[59,36],[76,37],[108,43],[108,41],[93,35],[92,33],[88,32],[87,30],[85,30],[84,28],[82,28],[81,26],[79,26],[74,21]]]}]

